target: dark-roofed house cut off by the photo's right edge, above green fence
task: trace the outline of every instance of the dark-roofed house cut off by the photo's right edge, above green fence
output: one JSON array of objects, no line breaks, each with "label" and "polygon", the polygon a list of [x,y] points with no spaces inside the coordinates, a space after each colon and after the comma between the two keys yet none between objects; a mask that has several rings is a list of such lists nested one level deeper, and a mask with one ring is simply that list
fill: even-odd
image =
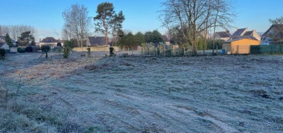
[{"label": "dark-roofed house cut off by the photo's right edge, above green fence", "polygon": [[261,35],[260,45],[277,44],[283,42],[283,25],[272,25]]}]

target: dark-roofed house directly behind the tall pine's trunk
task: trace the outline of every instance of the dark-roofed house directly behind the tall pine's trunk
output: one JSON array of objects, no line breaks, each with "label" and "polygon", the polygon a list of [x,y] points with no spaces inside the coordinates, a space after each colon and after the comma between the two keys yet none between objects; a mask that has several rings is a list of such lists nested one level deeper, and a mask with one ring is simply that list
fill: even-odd
[{"label": "dark-roofed house directly behind the tall pine's trunk", "polygon": [[110,46],[110,43],[106,42],[105,36],[89,36],[87,39],[87,46]]}]

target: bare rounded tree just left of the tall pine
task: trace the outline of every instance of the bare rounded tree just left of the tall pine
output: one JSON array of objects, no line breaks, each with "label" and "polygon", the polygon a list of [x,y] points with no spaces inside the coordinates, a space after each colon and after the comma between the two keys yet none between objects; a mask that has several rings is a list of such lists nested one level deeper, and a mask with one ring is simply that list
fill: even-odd
[{"label": "bare rounded tree just left of the tall pine", "polygon": [[[63,12],[65,26],[68,29],[68,38],[70,36],[74,37],[81,47],[87,40],[87,35],[90,31],[91,17],[87,16],[88,14],[89,11],[87,11],[87,8],[79,4],[72,5]],[[63,31],[67,29],[63,29]]]}]

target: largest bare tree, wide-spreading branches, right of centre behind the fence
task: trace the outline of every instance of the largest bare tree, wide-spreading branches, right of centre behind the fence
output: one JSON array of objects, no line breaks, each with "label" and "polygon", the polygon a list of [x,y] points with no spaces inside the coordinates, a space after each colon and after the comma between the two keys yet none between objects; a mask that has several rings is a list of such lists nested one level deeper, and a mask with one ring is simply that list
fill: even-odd
[{"label": "largest bare tree, wide-spreading branches, right of centre behind the fence", "polygon": [[[182,37],[183,39],[180,40],[185,40],[184,43],[189,43],[192,53],[196,55],[198,45],[197,38],[199,36],[206,37],[209,28],[228,26],[228,23],[232,22],[231,17],[233,16],[227,17],[227,14],[233,14],[231,11],[227,11],[227,9],[231,9],[231,5],[228,1],[229,0],[167,0],[163,3],[160,18],[163,20],[165,27],[180,32],[176,34],[179,35],[177,37],[179,39]],[[223,11],[227,11],[227,13]],[[223,17],[219,17],[220,14],[223,15]],[[213,20],[215,23],[211,23]]]}]

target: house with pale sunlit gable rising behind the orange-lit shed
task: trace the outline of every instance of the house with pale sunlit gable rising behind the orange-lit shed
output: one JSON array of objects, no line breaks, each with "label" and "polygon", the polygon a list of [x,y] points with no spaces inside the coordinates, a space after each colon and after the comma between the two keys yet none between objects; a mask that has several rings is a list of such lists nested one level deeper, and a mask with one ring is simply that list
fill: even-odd
[{"label": "house with pale sunlit gable rising behind the orange-lit shed", "polygon": [[260,35],[256,32],[256,30],[249,31],[247,28],[242,29],[236,29],[236,31],[233,33],[232,37],[240,37],[240,36],[253,36],[258,41],[261,40]]}]

